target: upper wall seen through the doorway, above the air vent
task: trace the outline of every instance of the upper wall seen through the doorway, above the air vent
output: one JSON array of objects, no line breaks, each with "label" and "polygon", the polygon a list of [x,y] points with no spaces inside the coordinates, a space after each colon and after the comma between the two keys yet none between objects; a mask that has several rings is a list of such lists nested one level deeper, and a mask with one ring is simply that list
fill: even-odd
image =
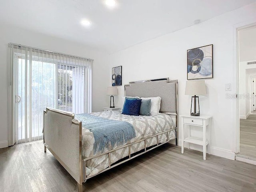
[{"label": "upper wall seen through the doorway, above the air vent", "polygon": [[256,60],[256,26],[239,31],[239,59]]}]

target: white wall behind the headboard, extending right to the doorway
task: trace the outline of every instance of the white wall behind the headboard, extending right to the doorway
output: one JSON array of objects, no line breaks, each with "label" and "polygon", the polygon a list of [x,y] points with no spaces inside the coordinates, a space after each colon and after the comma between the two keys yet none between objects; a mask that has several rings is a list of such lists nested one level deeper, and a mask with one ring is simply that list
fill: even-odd
[{"label": "white wall behind the headboard, extending right to the doorway", "polygon": [[[255,11],[256,3],[112,54],[109,74],[112,67],[122,65],[123,84],[165,77],[178,79],[179,114],[188,114],[191,99],[184,94],[187,78],[186,51],[213,44],[214,78],[206,80],[207,95],[200,96],[200,112],[213,116],[212,154],[234,159],[235,100],[226,96],[235,95],[234,25],[256,20]],[[225,91],[225,83],[232,84],[232,91]],[[119,95],[115,97],[116,106],[122,103],[124,86],[118,87],[118,92]]]}]

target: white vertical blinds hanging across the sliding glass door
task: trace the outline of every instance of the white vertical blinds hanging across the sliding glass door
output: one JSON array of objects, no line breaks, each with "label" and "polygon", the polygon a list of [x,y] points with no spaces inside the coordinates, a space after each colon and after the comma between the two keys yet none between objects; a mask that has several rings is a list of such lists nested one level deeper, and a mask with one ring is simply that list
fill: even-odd
[{"label": "white vertical blinds hanging across the sliding glass door", "polygon": [[13,143],[42,138],[46,107],[92,112],[92,59],[12,43],[9,53]]}]

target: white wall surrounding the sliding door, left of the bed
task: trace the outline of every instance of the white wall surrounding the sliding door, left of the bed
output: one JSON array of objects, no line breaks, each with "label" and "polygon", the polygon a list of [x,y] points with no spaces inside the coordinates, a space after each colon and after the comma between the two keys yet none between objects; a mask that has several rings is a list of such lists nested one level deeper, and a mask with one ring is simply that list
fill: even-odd
[{"label": "white wall surrounding the sliding door, left of the bed", "polygon": [[0,148],[8,146],[8,126],[10,126],[8,125],[8,85],[10,80],[7,62],[9,42],[94,59],[93,111],[102,111],[102,107],[106,106],[108,102],[106,87],[109,81],[109,75],[106,71],[109,69],[109,55],[88,48],[83,44],[8,26],[4,23],[1,23],[0,26]]}]

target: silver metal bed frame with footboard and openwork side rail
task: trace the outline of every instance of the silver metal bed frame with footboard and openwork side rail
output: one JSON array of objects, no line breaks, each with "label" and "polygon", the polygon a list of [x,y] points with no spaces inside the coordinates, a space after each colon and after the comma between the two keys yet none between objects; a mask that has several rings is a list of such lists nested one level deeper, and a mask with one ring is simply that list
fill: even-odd
[{"label": "silver metal bed frame with footboard and openwork side rail", "polygon": [[[138,140],[136,142],[132,142],[132,143],[126,144],[124,146],[120,146],[118,148],[109,150],[107,152],[104,152],[104,153],[101,153],[98,155],[91,156],[89,158],[82,159],[82,122],[79,122],[74,119],[74,117],[75,117],[74,113],[56,110],[56,109],[52,109],[52,108],[46,108],[46,110],[44,110],[44,129],[43,129],[44,152],[46,152],[46,148],[47,148],[53,154],[53,156],[60,162],[60,164],[62,164],[62,166],[69,172],[69,174],[76,180],[76,182],[78,184],[78,192],[83,191],[82,183],[86,182],[86,180],[88,180],[102,172],[110,170],[111,168],[114,168],[124,162],[132,160],[132,159],[136,158],[137,156],[140,156],[146,152],[149,152],[150,150],[153,150],[167,142],[170,142],[171,140],[169,140],[169,132],[171,132],[172,130],[175,130],[175,133],[176,133],[175,144],[178,145],[178,138],[177,138],[177,135],[178,135],[178,130],[177,130],[177,125],[178,125],[178,81],[177,80],[169,81],[168,78],[164,78],[164,79],[160,79],[160,80],[166,80],[167,83],[175,82],[176,112],[164,112],[168,115],[175,116],[175,119],[176,119],[175,128],[160,132],[158,134],[154,134],[152,136],[146,137],[146,138]],[[156,81],[156,80],[131,82],[131,83],[141,83],[141,82],[150,82],[150,81]],[[68,121],[68,122],[70,122],[70,124],[68,124],[68,125],[66,125],[65,123],[62,124],[63,121],[64,122]],[[58,126],[56,126],[56,122],[58,123]],[[70,130],[71,131],[75,130],[75,132],[70,133]],[[74,140],[74,143],[76,143],[76,146],[73,146],[72,143],[67,145],[66,143],[69,141],[64,140],[61,137],[61,135],[63,135],[63,134],[60,134],[60,133],[69,134],[70,142],[72,142],[71,140]],[[158,136],[161,134],[166,134],[166,141],[159,143]],[[51,137],[54,139],[51,140],[50,139]],[[156,137],[156,139],[157,139],[156,145],[147,147],[146,140],[153,138],[153,137]],[[142,142],[142,141],[144,141],[144,150],[140,150],[139,153],[134,152],[134,154],[135,153],[137,153],[137,154],[135,154],[134,156],[131,156],[131,146],[133,144],[136,144],[136,143]],[[65,146],[68,149],[66,149]],[[119,149],[122,149],[125,147],[129,147],[129,156],[122,158],[116,164],[111,165],[111,163],[110,163],[111,152],[114,152],[116,150],[119,150]],[[63,148],[65,149],[65,153],[61,152],[61,150]],[[73,152],[73,153],[70,154],[69,151]],[[101,172],[99,172],[93,176],[86,176],[86,161],[92,160],[93,158],[97,158],[97,157],[105,155],[105,154],[108,154],[108,163],[109,163],[108,168],[102,170]],[[69,158],[67,159],[66,156]],[[73,156],[74,156],[74,158],[72,158]]]}]

